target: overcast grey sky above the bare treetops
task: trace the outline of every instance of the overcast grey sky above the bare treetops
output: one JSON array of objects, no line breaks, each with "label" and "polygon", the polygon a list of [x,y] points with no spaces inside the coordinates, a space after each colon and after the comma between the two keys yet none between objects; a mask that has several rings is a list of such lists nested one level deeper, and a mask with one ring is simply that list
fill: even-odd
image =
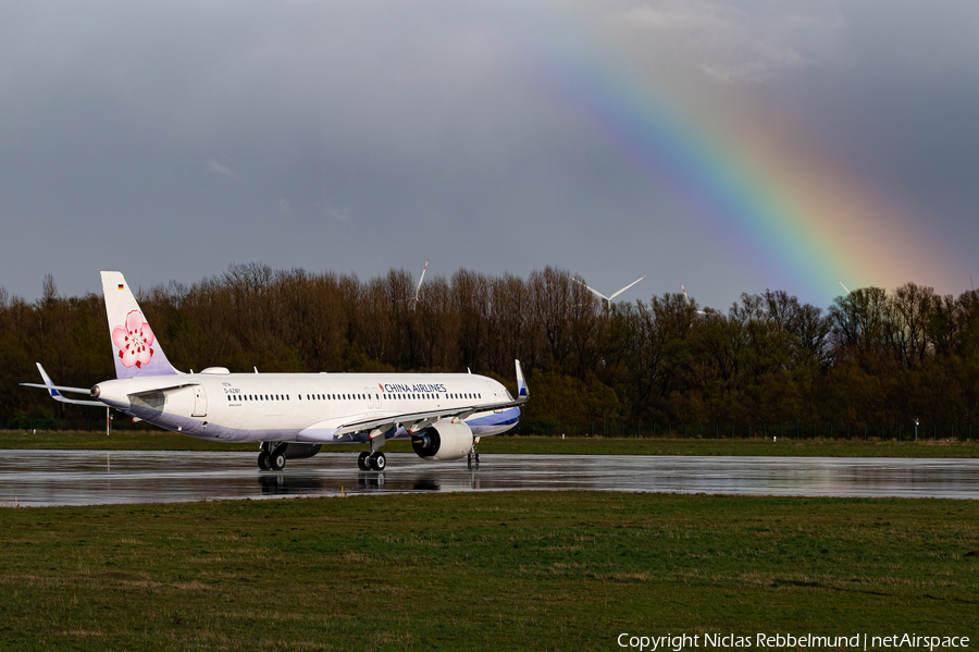
[{"label": "overcast grey sky above the bare treetops", "polygon": [[[7,1],[0,285],[34,300],[47,273],[75,295],[102,269],[149,286],[431,258],[558,266],[606,294],[646,274],[621,298],[682,282],[717,308],[766,287],[826,307],[853,269],[870,271],[852,287],[957,295],[979,280],[977,35],[979,3],[950,0]],[[634,119],[609,118],[616,97],[640,98]],[[670,110],[818,144],[901,208],[887,230],[920,255],[801,282],[811,265],[739,216],[698,217],[695,173],[673,192],[676,155],[631,147]]]}]

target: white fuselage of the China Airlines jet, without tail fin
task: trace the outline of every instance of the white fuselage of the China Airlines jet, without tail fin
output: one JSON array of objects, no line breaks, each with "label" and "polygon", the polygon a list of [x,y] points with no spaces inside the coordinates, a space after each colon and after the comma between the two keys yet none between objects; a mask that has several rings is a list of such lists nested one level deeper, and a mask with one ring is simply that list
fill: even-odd
[{"label": "white fuselage of the China Airlines jet, without tail fin", "polygon": [[[337,430],[351,422],[511,399],[495,380],[470,373],[201,373],[131,378],[96,385],[98,399],[145,421],[231,442],[348,443],[369,432]],[[519,407],[473,411],[473,435],[498,434]],[[404,421],[387,439],[409,436]]]}]

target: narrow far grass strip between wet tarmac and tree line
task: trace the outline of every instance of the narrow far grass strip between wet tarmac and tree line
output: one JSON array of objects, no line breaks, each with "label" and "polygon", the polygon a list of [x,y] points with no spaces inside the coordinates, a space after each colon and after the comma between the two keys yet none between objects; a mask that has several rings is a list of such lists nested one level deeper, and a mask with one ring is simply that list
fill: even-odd
[{"label": "narrow far grass strip between wet tarmac and tree line", "polygon": [[[249,451],[257,444],[226,444],[198,440],[172,432],[37,433],[0,431],[0,448],[91,448],[123,451]],[[360,445],[330,446],[333,452],[364,450]],[[388,453],[408,453],[407,441],[385,444]],[[761,439],[607,439],[547,436],[488,436],[479,445],[481,453],[528,453],[571,455],[778,455],[804,457],[979,457],[979,442],[962,441],[846,441]]]}]

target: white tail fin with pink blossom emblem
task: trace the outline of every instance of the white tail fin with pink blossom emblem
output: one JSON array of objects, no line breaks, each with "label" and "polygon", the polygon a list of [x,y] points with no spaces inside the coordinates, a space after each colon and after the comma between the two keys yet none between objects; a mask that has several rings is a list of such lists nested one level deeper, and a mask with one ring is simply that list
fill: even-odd
[{"label": "white tail fin with pink blossom emblem", "polygon": [[166,359],[120,272],[102,272],[102,294],[109,317],[109,334],[116,378],[144,378],[179,373]]}]

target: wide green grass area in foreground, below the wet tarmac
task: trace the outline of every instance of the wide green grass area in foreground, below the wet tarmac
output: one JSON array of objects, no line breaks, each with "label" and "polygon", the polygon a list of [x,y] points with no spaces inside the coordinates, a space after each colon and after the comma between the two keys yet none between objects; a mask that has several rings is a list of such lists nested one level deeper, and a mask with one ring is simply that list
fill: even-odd
[{"label": "wide green grass area in foreground, below the wet tarmac", "polygon": [[0,509],[4,650],[979,640],[979,503],[493,492]]}]

